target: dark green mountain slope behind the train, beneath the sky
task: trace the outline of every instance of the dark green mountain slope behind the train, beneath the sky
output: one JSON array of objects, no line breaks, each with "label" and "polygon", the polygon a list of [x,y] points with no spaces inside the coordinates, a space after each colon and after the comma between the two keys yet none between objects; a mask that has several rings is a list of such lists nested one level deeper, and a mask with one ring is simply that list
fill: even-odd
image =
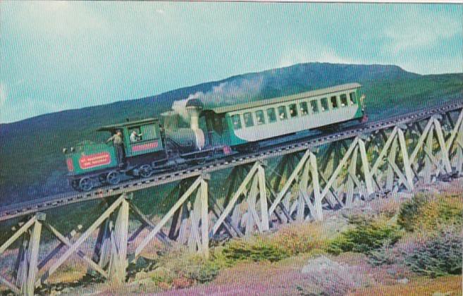
[{"label": "dark green mountain slope behind the train, beneath the sky", "polygon": [[0,202],[12,203],[69,190],[61,149],[82,140],[104,140],[99,126],[125,118],[156,116],[173,101],[204,97],[232,104],[278,97],[346,82],[364,85],[367,111],[375,116],[462,97],[463,75],[417,75],[397,66],[303,63],[184,87],[152,97],[49,113],[0,125]]}]

